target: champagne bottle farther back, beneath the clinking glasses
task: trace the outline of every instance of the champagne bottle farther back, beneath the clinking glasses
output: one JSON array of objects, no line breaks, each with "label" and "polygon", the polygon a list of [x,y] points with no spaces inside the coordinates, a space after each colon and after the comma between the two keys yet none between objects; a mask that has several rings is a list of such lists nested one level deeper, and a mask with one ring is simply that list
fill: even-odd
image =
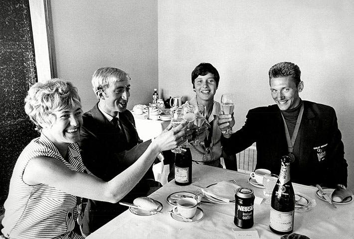
[{"label": "champagne bottle farther back, beneath the clinking glasses", "polygon": [[181,186],[192,183],[192,157],[189,149],[184,153],[175,153],[175,182]]}]

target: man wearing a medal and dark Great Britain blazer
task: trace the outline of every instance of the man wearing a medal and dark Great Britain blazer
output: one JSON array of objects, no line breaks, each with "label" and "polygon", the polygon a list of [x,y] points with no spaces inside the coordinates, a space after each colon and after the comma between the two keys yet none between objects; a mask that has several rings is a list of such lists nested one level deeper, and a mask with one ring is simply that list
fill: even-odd
[{"label": "man wearing a medal and dark Great Britain blazer", "polygon": [[[330,106],[300,99],[304,89],[300,74],[291,62],[270,68],[270,90],[276,105],[250,110],[241,129],[223,134],[223,150],[238,153],[256,142],[256,168],[279,174],[281,156],[289,154],[294,158],[292,182],[345,188],[348,164],[336,112]],[[233,126],[234,119],[220,115],[219,125],[221,129]]]}]

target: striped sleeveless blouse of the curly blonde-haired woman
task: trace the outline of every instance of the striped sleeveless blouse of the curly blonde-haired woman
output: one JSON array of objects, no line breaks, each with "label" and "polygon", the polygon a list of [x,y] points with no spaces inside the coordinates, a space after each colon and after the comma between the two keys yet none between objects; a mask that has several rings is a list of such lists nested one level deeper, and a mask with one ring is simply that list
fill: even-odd
[{"label": "striped sleeveless blouse of the curly blonde-haired woman", "polygon": [[69,162],[66,162],[43,134],[24,148],[12,172],[9,194],[4,204],[3,236],[0,238],[83,239],[72,232],[78,216],[75,196],[45,184],[29,186],[22,180],[29,160],[36,156],[58,159],[69,169],[83,172],[78,144],[69,144],[68,152]]}]

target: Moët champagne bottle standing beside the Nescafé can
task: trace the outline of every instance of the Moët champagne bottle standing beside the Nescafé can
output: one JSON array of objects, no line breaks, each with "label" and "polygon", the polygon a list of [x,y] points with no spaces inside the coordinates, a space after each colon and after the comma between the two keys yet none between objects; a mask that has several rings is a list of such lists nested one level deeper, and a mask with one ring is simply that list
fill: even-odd
[{"label": "Mo\u00ebt champagne bottle standing beside the Nescaf\u00e9 can", "polygon": [[291,158],[282,156],[277,184],[273,189],[269,228],[276,234],[290,234],[294,228],[295,193],[290,180]]}]

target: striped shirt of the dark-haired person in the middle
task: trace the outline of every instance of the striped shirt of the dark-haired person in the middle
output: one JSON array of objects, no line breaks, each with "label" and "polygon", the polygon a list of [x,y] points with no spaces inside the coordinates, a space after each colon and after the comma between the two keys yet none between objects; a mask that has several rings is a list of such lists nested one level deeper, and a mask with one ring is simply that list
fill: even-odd
[{"label": "striped shirt of the dark-haired person in the middle", "polygon": [[[187,101],[184,104],[188,104],[190,106],[197,105],[196,96],[194,96],[190,101]],[[221,105],[219,102],[213,102],[213,109],[212,113],[209,116],[209,119],[206,120],[206,123],[210,126],[212,124],[212,137],[211,137],[211,144],[210,144],[210,154],[212,157],[212,161],[210,162],[203,162],[202,158],[205,154],[205,146],[193,146],[190,148],[190,153],[192,155],[192,163],[195,164],[206,164],[214,167],[222,167],[220,162],[220,157],[222,154],[221,148],[221,130],[219,125],[217,124],[219,112],[221,111]]]}]

